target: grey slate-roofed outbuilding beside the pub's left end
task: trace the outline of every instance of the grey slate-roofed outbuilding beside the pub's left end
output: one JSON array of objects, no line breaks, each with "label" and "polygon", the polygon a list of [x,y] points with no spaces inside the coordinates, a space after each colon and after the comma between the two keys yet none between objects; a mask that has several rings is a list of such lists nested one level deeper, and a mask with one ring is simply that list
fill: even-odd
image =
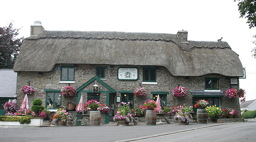
[{"label": "grey slate-roofed outbuilding beside the pub's left end", "polygon": [[4,115],[4,103],[16,99],[17,72],[13,69],[0,69],[0,79],[0,114]]}]

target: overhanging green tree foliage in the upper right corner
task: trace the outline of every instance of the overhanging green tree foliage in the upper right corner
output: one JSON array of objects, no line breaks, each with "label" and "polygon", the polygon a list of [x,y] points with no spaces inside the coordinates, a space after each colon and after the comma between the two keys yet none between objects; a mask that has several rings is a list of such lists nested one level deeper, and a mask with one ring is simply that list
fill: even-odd
[{"label": "overhanging green tree foliage in the upper right corner", "polygon": [[[256,27],[256,0],[234,0],[238,2],[238,11],[240,12],[240,17],[247,18],[247,22],[249,23],[249,28]],[[256,35],[253,36],[256,38]],[[256,44],[256,40],[253,41]],[[254,58],[256,59],[256,47],[252,49]]]}]

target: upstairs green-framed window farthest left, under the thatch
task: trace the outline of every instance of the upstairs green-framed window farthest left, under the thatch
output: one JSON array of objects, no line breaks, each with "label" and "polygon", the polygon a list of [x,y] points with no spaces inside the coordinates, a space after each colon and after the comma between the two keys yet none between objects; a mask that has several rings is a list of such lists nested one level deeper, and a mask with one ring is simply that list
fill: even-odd
[{"label": "upstairs green-framed window farthest left, under the thatch", "polygon": [[61,67],[61,81],[74,81],[75,80],[75,68],[64,66]]}]

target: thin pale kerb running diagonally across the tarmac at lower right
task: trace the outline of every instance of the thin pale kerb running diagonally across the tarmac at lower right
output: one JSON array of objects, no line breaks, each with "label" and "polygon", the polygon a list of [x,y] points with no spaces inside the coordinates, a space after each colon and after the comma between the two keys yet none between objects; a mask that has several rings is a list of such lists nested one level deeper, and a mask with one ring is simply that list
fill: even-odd
[{"label": "thin pale kerb running diagonally across the tarmac at lower right", "polygon": [[[234,123],[244,123],[244,122],[234,122]],[[214,127],[214,126],[220,126],[220,125],[228,125],[228,124],[234,124],[234,123],[215,123],[210,126],[201,126],[201,127],[196,127],[192,129],[184,129],[184,130],[179,130],[179,131],[173,131],[173,132],[165,132],[165,133],[159,133],[159,134],[154,134],[154,135],[147,135],[147,136],[142,136],[142,137],[137,137],[137,138],[130,138],[130,139],[123,139],[123,140],[118,140],[118,141],[112,141],[112,142],[131,142],[131,141],[138,141],[142,139],[148,139],[148,138],[153,138],[153,137],[159,137],[163,135],[170,135],[170,134],[176,134],[176,133],[181,133],[181,132],[186,132],[186,131],[193,131],[197,129],[203,129],[203,128],[208,128],[208,127]]]}]

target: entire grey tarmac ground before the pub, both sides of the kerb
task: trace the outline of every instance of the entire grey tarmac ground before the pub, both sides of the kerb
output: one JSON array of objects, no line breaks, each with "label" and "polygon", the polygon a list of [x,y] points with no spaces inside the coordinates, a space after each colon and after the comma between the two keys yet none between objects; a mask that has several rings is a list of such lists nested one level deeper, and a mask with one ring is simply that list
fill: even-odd
[{"label": "entire grey tarmac ground before the pub, both sides of the kerb", "polygon": [[[246,123],[191,123],[186,126],[163,124],[146,125],[101,125],[74,127],[0,127],[0,142],[255,142],[256,122]],[[153,137],[153,138],[152,138]]]}]

